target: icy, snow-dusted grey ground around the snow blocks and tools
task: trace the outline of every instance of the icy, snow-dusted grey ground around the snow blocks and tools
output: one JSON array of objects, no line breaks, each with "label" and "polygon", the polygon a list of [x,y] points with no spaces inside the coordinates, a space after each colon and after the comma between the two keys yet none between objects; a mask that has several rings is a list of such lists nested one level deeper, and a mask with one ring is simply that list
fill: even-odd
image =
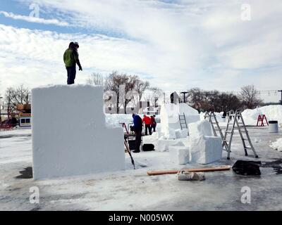
[{"label": "icy, snow-dusted grey ground around the snow blocks and tools", "polygon": [[[282,159],[281,152],[269,147],[281,133],[269,134],[267,128],[248,129],[258,160]],[[144,142],[156,144],[156,136],[146,136]],[[223,160],[208,166],[255,160],[252,153],[245,157],[241,146],[237,134],[231,160],[226,160],[224,152]],[[178,181],[176,175],[147,176],[151,169],[182,168],[169,162],[168,153],[133,153],[133,157],[136,170],[126,154],[126,170],[122,172],[45,181],[18,179],[20,171],[32,167],[31,131],[1,131],[0,210],[282,210],[282,174],[271,167],[261,167],[262,176],[258,177],[226,171],[206,173],[205,181]],[[39,188],[39,204],[29,201],[32,186]],[[243,186],[251,188],[250,204],[240,201]]]}]

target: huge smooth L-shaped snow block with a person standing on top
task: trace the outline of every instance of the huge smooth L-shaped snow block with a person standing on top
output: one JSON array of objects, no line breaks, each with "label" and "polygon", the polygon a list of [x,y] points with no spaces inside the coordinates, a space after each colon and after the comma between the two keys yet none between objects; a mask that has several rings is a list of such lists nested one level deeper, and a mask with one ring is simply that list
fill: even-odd
[{"label": "huge smooth L-shaped snow block with a person standing on top", "polygon": [[106,128],[102,87],[32,89],[32,157],[34,179],[125,169],[123,129]]}]

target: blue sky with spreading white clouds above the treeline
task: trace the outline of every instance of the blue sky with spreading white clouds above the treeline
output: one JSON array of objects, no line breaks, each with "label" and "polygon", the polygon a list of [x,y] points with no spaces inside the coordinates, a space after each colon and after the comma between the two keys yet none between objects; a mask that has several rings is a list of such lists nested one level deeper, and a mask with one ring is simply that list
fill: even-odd
[{"label": "blue sky with spreading white clouds above the treeline", "polygon": [[0,93],[65,84],[70,41],[80,43],[78,84],[118,70],[164,91],[281,90],[281,40],[281,0],[1,0]]}]

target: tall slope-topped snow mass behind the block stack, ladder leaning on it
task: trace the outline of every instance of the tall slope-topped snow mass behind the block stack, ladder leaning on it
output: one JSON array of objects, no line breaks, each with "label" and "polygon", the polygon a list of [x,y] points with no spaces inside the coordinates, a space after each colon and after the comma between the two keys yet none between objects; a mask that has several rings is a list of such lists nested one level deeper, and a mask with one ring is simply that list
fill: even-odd
[{"label": "tall slope-topped snow mass behind the block stack, ladder leaning on it", "polygon": [[161,134],[164,135],[166,139],[171,139],[171,136],[174,136],[171,129],[181,129],[179,115],[183,115],[183,113],[187,124],[200,120],[198,111],[185,103],[161,106]]}]

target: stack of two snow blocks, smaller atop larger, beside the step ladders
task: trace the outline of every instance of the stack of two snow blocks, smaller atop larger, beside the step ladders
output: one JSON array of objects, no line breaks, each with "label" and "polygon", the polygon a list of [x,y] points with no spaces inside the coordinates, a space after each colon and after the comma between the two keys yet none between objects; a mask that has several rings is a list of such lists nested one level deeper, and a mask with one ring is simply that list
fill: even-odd
[{"label": "stack of two snow blocks, smaller atop larger, beside the step ladders", "polygon": [[207,120],[189,124],[190,162],[208,164],[222,158],[221,137],[213,136]]}]

